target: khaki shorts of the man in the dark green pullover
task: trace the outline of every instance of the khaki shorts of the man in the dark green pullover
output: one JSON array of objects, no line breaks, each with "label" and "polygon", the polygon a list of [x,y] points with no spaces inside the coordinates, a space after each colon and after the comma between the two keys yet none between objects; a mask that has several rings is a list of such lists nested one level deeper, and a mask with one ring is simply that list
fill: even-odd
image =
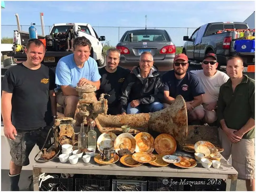
[{"label": "khaki shorts of the man in the dark green pullover", "polygon": [[232,166],[238,172],[238,178],[255,179],[255,138],[241,139],[238,143],[232,143],[221,128],[218,130],[221,146],[224,149],[221,155],[226,160],[232,155]]}]

